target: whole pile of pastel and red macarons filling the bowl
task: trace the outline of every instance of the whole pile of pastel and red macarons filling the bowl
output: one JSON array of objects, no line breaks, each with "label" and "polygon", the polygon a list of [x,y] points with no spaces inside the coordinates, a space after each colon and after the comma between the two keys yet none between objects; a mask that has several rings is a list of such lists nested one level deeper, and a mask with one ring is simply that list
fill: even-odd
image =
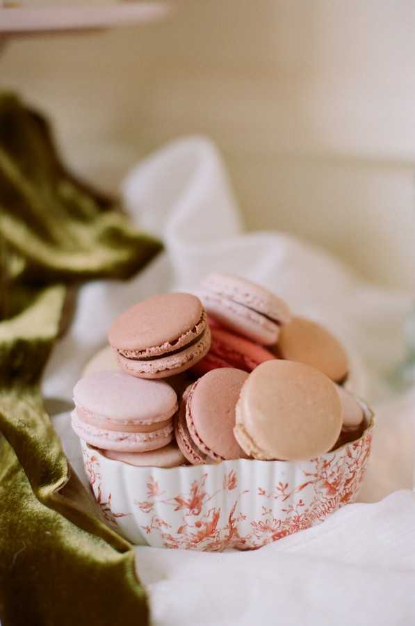
[{"label": "whole pile of pastel and red macarons filling the bowl", "polygon": [[106,456],[176,467],[314,458],[358,438],[339,341],[267,289],[214,273],[195,294],[152,296],[108,333],[115,359],[74,387],[72,426]]}]

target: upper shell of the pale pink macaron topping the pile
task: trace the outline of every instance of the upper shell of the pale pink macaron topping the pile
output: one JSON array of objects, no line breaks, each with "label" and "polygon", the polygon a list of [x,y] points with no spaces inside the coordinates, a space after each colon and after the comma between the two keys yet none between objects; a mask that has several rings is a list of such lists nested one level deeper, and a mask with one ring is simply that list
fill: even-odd
[{"label": "upper shell of the pale pink macaron topping the pile", "polygon": [[241,276],[211,273],[203,280],[202,287],[250,307],[279,323],[284,324],[291,320],[291,312],[284,300],[265,287]]}]

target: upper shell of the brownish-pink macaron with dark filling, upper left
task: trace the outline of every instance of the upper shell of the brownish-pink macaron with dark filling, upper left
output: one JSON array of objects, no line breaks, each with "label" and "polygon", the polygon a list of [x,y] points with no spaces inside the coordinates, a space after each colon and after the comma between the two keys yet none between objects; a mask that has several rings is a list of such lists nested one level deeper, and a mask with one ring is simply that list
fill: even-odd
[{"label": "upper shell of the brownish-pink macaron with dark filling, upper left", "polygon": [[[165,354],[200,335],[203,307],[193,294],[161,294],[124,311],[108,332],[117,350]],[[202,326],[206,321],[203,321]]]}]

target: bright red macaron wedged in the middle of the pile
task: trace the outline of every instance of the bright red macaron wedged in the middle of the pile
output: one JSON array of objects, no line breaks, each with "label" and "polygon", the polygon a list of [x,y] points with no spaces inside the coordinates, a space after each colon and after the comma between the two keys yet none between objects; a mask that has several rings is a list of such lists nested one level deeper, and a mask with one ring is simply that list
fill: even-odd
[{"label": "bright red macaron wedged in the middle of the pile", "polygon": [[249,339],[233,332],[211,327],[211,348],[192,371],[202,376],[218,367],[235,367],[250,372],[264,361],[275,359],[275,355]]}]

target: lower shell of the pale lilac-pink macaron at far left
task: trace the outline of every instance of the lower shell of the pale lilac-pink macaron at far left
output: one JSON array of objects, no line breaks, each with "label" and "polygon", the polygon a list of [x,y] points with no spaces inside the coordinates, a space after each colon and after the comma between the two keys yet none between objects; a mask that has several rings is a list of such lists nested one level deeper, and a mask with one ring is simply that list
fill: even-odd
[{"label": "lower shell of the pale lilac-pink macaron at far left", "polygon": [[152,433],[123,433],[86,424],[72,412],[72,428],[88,444],[104,450],[145,452],[166,446],[173,438],[173,423]]}]

